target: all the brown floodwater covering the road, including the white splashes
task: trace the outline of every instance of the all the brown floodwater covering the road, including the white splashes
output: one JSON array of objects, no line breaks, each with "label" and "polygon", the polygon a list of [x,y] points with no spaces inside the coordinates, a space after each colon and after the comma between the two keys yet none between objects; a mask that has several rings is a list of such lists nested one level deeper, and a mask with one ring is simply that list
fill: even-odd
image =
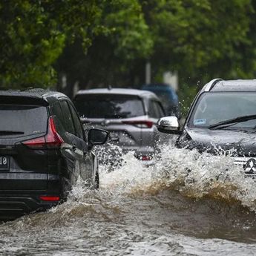
[{"label": "all the brown floodwater covering the road, including the white splashes", "polygon": [[[256,186],[232,160],[163,147],[154,168],[133,154],[99,191],[0,225],[0,255],[256,255]],[[191,170],[188,173],[188,169]]]}]

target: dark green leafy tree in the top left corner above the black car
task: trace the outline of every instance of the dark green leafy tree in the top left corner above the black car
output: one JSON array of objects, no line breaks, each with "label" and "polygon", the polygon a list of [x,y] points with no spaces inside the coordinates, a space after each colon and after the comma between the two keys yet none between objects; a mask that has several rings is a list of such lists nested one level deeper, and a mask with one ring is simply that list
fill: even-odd
[{"label": "dark green leafy tree in the top left corner above the black car", "polygon": [[0,81],[7,88],[56,85],[53,63],[68,42],[91,43],[96,0],[10,0],[0,3]]}]

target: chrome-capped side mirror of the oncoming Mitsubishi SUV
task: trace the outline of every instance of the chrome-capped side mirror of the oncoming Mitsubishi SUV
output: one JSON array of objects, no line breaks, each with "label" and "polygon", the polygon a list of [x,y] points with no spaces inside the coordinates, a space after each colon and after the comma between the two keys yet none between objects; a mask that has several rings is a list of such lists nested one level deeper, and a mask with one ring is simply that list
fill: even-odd
[{"label": "chrome-capped side mirror of the oncoming Mitsubishi SUV", "polygon": [[157,130],[165,134],[181,134],[177,116],[165,116],[157,121]]}]

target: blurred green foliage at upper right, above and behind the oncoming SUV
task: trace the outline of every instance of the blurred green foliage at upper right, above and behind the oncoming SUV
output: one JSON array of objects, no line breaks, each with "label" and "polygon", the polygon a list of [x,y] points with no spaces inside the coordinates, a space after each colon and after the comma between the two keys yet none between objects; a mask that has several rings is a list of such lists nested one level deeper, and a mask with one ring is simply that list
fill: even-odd
[{"label": "blurred green foliage at upper right, above and behind the oncoming SUV", "polygon": [[164,70],[178,71],[186,108],[214,77],[255,77],[255,0],[140,2],[154,38],[154,81],[161,82]]}]

